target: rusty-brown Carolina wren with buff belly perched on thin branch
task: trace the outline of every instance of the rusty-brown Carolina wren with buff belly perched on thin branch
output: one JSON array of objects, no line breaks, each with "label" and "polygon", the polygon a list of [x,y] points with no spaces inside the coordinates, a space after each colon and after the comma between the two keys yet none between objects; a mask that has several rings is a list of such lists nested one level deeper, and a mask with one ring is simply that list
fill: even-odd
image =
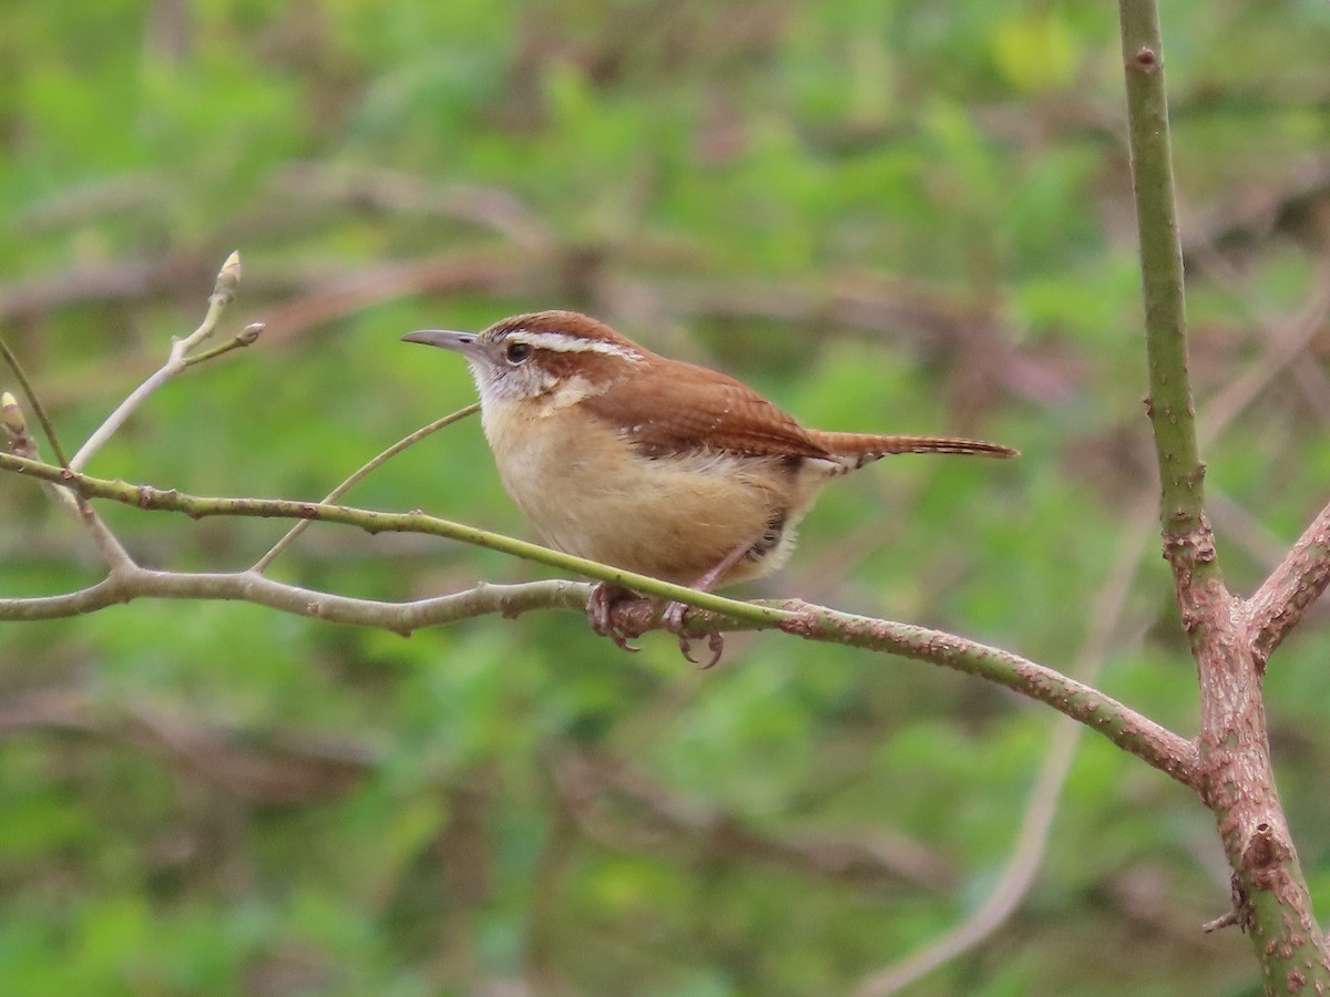
[{"label": "rusty-brown Carolina wren with buff belly perched on thin branch", "polygon": [[[734,378],[573,311],[403,339],[467,359],[504,488],[547,544],[705,590],[781,568],[837,475],[887,453],[1016,455],[979,440],[809,429]],[[602,584],[588,604],[596,630],[621,646],[610,605],[625,594]],[[677,630],[684,611],[670,605],[666,622]]]}]

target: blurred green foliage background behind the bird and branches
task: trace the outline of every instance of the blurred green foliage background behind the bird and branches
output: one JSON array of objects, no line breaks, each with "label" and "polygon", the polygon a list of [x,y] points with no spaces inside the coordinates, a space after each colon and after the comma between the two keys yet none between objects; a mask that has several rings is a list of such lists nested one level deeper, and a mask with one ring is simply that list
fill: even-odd
[{"label": "blurred green foliage background behind the bird and branches", "polygon": [[[1249,592],[1330,480],[1330,7],[1168,0],[1164,28],[1213,513]],[[322,496],[472,397],[402,332],[541,307],[823,428],[1009,443],[838,483],[746,592],[1064,670],[1107,629],[1097,681],[1190,734],[1116,29],[1089,0],[11,3],[0,327],[76,445],[242,250],[226,326],[265,338],[90,467],[201,495]],[[524,534],[475,420],[350,498]],[[0,508],[4,594],[98,577],[32,483],[0,477]],[[105,516],[177,569],[282,532]],[[541,577],[332,528],[274,573],[388,600]],[[1049,710],[779,635],[712,673],[642,643],[553,613],[411,639],[229,604],[5,625],[0,989],[845,993],[995,889]],[[1322,916],[1326,651],[1313,615],[1266,683]],[[1198,931],[1228,871],[1185,791],[1088,735],[1055,815],[1013,917],[911,993],[1257,992],[1249,941]]]}]

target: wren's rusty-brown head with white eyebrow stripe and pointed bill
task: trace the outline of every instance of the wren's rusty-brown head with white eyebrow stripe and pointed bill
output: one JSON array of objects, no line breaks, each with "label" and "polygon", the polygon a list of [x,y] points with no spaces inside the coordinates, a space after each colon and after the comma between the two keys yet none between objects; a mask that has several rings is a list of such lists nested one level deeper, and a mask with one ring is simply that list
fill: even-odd
[{"label": "wren's rusty-brown head with white eyebrow stripe and pointed bill", "polygon": [[484,332],[427,328],[402,339],[462,354],[487,405],[549,395],[564,386],[580,387],[581,395],[648,356],[626,336],[576,311],[513,315]]}]

